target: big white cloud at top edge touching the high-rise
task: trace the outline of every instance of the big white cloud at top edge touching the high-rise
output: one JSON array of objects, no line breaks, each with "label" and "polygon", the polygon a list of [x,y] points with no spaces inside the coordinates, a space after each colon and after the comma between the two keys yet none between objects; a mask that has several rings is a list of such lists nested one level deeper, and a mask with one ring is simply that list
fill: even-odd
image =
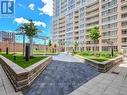
[{"label": "big white cloud at top edge touching the high-rise", "polygon": [[53,0],[41,0],[44,3],[42,8],[38,8],[41,13],[47,14],[49,16],[53,15]]}]

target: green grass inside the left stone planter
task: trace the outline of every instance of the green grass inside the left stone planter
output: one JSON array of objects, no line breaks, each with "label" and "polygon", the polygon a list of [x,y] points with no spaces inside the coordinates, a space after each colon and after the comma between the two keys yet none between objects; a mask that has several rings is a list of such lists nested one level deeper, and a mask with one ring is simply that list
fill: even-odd
[{"label": "green grass inside the left stone planter", "polygon": [[22,68],[27,68],[27,67],[31,66],[32,64],[35,64],[36,62],[46,58],[46,56],[36,56],[36,57],[31,58],[29,61],[25,61],[25,59],[23,58],[22,55],[16,55],[16,60],[13,59],[12,54],[8,54],[8,55],[1,54],[1,55],[3,55],[4,57],[8,58],[11,61],[13,61],[14,63],[21,66]]}]

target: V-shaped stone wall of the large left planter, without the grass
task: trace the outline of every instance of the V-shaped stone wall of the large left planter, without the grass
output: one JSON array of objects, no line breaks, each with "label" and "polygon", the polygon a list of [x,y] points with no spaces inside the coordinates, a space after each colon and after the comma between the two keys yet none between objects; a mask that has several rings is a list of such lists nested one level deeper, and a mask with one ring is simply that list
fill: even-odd
[{"label": "V-shaped stone wall of the large left planter, without the grass", "polygon": [[4,56],[0,55],[0,63],[10,79],[15,91],[20,91],[36,79],[36,77],[48,66],[52,61],[52,56],[45,58],[27,68],[22,68],[16,63],[10,61]]}]

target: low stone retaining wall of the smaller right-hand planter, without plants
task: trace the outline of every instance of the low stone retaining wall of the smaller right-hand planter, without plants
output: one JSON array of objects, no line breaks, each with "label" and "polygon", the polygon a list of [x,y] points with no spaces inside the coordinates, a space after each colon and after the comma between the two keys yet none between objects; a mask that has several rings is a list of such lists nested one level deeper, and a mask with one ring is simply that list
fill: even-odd
[{"label": "low stone retaining wall of the smaller right-hand planter, without plants", "polygon": [[88,64],[96,67],[98,69],[98,71],[102,72],[102,73],[109,71],[113,66],[118,64],[123,59],[123,56],[121,55],[121,56],[118,56],[116,58],[110,59],[108,61],[98,62],[95,60],[91,60],[91,59],[82,57],[80,55],[75,55],[75,57],[79,57],[79,58],[85,60],[85,63],[88,63]]}]

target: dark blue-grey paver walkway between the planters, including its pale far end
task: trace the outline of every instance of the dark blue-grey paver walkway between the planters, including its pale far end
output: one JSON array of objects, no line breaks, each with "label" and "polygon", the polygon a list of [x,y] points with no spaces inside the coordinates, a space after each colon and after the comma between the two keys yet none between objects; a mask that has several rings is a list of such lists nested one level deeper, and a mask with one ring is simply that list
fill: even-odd
[{"label": "dark blue-grey paver walkway between the planters, including its pale far end", "polygon": [[100,74],[94,67],[62,53],[27,89],[24,95],[67,95]]}]

